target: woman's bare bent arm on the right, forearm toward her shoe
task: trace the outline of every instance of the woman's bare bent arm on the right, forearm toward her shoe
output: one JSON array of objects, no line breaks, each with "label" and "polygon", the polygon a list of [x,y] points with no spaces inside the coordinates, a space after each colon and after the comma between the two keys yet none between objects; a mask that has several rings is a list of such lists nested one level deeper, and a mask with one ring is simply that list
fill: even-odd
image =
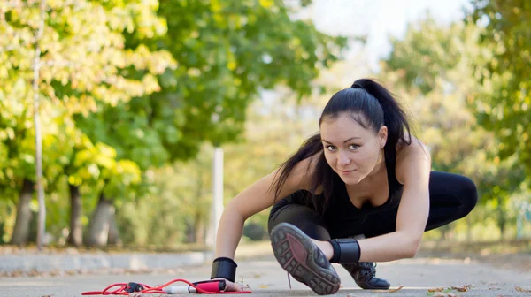
[{"label": "woman's bare bent arm on the right, forearm toward her shoe", "polygon": [[385,262],[411,258],[417,253],[429,213],[431,157],[420,141],[402,148],[396,158],[396,179],[404,185],[396,217],[396,231],[359,240],[359,261]]}]

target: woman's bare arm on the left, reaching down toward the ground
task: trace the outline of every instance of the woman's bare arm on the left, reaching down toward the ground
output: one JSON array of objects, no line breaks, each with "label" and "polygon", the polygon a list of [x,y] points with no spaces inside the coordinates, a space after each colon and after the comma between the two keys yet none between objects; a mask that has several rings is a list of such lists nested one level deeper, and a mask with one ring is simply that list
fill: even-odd
[{"label": "woman's bare arm on the left, reaching down toward the ground", "polygon": [[[296,164],[281,188],[279,199],[299,189],[309,189],[306,178],[310,176],[310,172],[312,171],[312,167],[310,166],[312,159],[310,157]],[[243,223],[245,220],[267,209],[275,202],[275,190],[274,188],[269,190],[275,180],[275,174],[277,174],[277,171],[259,179],[242,193],[237,194],[227,204],[219,220],[218,233],[216,234],[215,257],[234,259],[236,247],[242,238]]]}]

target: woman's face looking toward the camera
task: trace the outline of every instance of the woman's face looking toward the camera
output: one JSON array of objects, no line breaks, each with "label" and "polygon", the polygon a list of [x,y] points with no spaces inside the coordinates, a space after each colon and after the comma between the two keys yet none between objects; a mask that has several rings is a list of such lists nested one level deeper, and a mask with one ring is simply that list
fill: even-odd
[{"label": "woman's face looking toward the camera", "polygon": [[348,113],[323,120],[320,134],[327,163],[347,185],[358,184],[374,171],[382,160],[387,141],[386,126],[374,133]]}]

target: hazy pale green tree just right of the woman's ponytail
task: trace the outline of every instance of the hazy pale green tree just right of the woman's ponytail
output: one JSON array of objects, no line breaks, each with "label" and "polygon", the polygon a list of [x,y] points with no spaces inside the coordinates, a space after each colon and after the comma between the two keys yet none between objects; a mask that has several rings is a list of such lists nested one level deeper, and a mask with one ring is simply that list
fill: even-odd
[{"label": "hazy pale green tree just right of the woman's ponytail", "polygon": [[478,44],[480,34],[473,24],[442,27],[428,16],[410,25],[404,40],[393,42],[381,76],[404,94],[417,135],[430,148],[433,168],[472,178],[480,203],[496,205],[503,236],[506,207],[524,175],[514,168],[514,160],[496,156],[499,142],[477,122],[468,101],[484,89],[473,77],[473,64],[486,54]]}]

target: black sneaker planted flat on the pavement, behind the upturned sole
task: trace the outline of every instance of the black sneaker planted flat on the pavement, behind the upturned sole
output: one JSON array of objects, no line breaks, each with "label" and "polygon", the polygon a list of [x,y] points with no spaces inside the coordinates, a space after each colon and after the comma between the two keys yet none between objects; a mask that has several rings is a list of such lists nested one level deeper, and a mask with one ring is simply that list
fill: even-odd
[{"label": "black sneaker planted flat on the pavement, behind the upturned sole", "polygon": [[389,282],[382,278],[376,278],[376,263],[358,262],[352,264],[342,264],[349,271],[352,278],[362,289],[370,290],[387,290]]}]

